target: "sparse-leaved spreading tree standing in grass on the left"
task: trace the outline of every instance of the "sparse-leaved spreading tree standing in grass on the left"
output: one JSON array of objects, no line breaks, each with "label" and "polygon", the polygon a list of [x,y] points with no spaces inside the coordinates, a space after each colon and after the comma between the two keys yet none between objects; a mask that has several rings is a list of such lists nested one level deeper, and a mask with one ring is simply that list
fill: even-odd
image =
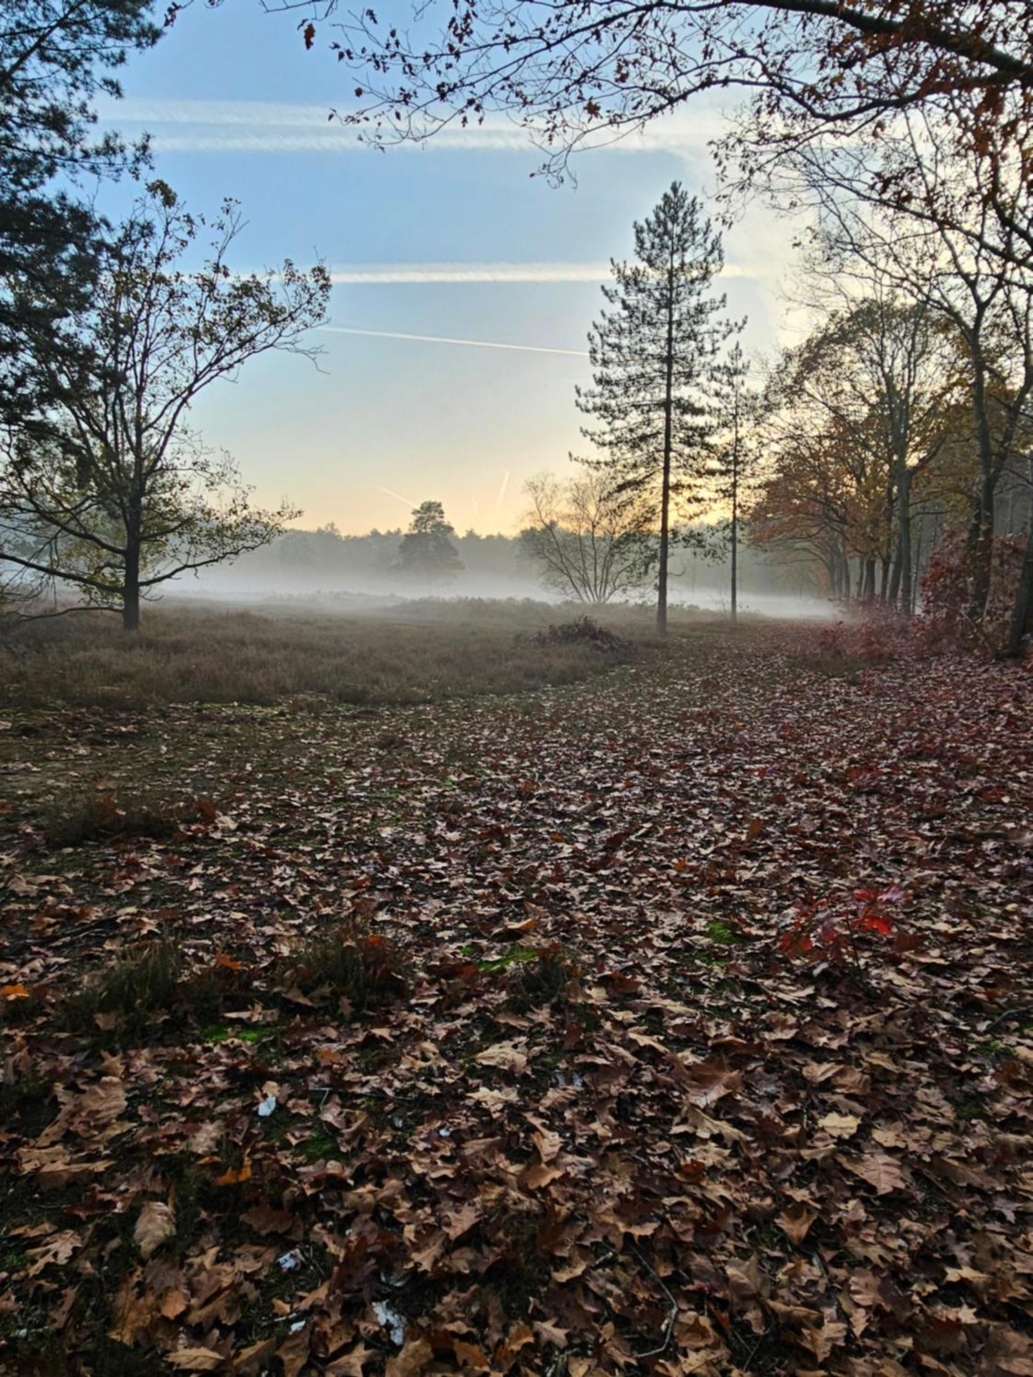
[{"label": "sparse-leaved spreading tree standing in grass on the left", "polygon": [[23,591],[63,585],[85,606],[120,609],[127,631],[160,584],[266,544],[293,515],[252,509],[233,464],[212,459],[186,419],[248,359],[314,354],[303,336],[325,313],[329,277],[291,263],[231,273],[241,222],[229,202],[208,260],[187,271],[179,259],[204,224],[152,186],[72,318],[81,357],[40,353],[51,401],[8,430],[0,454],[0,562]]}]

